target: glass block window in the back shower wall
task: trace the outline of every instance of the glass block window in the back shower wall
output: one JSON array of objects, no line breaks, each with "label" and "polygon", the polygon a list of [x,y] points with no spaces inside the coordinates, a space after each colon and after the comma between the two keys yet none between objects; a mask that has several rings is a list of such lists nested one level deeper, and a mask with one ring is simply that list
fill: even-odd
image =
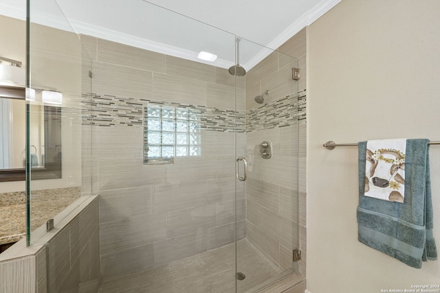
[{"label": "glass block window in the back shower wall", "polygon": [[149,104],[144,108],[144,164],[200,156],[200,113],[193,108]]}]

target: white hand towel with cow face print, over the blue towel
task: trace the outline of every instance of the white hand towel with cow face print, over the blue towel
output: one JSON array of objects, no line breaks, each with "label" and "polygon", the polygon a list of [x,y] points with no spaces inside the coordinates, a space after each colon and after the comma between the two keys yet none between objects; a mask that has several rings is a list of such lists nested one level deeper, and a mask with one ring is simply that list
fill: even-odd
[{"label": "white hand towel with cow face print, over the blue towel", "polygon": [[366,149],[364,195],[404,202],[405,154],[393,148]]}]

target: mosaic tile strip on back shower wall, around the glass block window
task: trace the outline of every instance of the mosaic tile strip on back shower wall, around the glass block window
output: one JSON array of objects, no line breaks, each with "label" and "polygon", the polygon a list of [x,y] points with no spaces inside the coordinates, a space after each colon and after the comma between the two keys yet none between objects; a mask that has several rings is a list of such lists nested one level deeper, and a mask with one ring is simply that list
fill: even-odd
[{"label": "mosaic tile strip on back shower wall, around the glass block window", "polygon": [[245,112],[214,107],[156,102],[113,95],[83,95],[83,125],[92,126],[143,126],[143,109],[148,104],[162,104],[196,110],[200,113],[201,129],[221,132],[244,132]]}]

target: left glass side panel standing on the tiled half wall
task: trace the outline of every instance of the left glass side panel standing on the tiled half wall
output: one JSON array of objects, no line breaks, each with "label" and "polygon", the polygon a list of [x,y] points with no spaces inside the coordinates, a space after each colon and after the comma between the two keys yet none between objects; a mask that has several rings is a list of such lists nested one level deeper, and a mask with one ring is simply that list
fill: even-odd
[{"label": "left glass side panel standing on the tiled half wall", "polygon": [[87,196],[97,194],[98,164],[91,152],[91,58],[56,1],[28,5],[26,84],[35,94],[28,91],[26,101],[27,228],[28,244],[42,244],[48,220],[59,225]]}]

